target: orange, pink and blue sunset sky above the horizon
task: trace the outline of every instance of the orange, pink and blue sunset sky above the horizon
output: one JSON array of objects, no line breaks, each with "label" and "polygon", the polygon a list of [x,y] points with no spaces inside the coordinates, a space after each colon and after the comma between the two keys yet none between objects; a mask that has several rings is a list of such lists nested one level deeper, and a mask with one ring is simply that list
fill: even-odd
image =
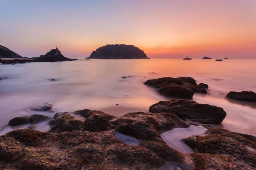
[{"label": "orange, pink and blue sunset sky above the horizon", "polygon": [[256,58],[256,0],[0,0],[0,45],[69,58],[132,44],[150,58]]}]

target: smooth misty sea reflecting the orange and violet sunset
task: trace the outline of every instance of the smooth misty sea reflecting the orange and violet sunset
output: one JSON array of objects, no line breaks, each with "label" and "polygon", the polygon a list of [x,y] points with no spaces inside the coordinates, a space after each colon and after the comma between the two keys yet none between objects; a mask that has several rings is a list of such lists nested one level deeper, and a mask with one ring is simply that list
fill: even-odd
[{"label": "smooth misty sea reflecting the orange and violet sunset", "polygon": [[[197,83],[207,83],[210,90],[207,95],[195,94],[193,100],[227,112],[226,119],[215,127],[256,136],[256,105],[225,99],[229,91],[256,91],[255,66],[256,59],[94,59],[0,65],[0,78],[7,77],[0,81],[0,127],[14,117],[38,113],[29,108],[45,102],[53,103],[55,112],[85,108],[116,116],[147,112],[152,104],[172,98],[157,94],[143,82],[159,77],[193,77]],[[0,134],[13,128],[6,129]]]}]

